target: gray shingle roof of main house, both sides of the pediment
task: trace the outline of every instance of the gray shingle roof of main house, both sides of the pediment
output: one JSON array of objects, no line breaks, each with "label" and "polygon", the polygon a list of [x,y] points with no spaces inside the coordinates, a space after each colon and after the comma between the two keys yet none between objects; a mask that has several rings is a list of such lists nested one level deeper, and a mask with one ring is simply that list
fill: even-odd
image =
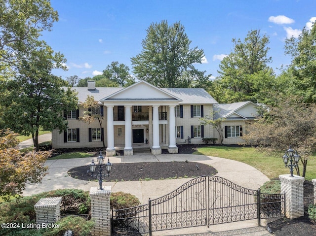
[{"label": "gray shingle roof of main house, both sides of the pediment", "polygon": [[[84,102],[88,95],[100,101],[124,88],[97,87],[95,90],[88,90],[87,87],[73,87],[78,92],[79,102]],[[200,88],[160,88],[161,90],[181,99],[180,104],[213,104],[217,103],[204,89]],[[140,98],[141,99],[141,98]]]}]

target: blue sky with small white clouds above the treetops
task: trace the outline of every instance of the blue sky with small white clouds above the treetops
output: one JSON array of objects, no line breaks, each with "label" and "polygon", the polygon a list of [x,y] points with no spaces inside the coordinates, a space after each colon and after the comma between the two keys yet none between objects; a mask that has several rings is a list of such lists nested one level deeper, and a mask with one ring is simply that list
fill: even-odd
[{"label": "blue sky with small white clouds above the treetops", "polygon": [[67,71],[53,71],[64,79],[93,77],[113,61],[132,74],[130,58],[141,53],[150,24],[162,20],[181,22],[191,47],[204,50],[206,60],[196,67],[213,76],[233,51],[233,38],[260,30],[270,37],[270,66],[278,74],[277,68],[290,63],[285,38],[297,37],[316,20],[316,0],[51,0],[51,5],[59,21],[41,39],[67,59]]}]

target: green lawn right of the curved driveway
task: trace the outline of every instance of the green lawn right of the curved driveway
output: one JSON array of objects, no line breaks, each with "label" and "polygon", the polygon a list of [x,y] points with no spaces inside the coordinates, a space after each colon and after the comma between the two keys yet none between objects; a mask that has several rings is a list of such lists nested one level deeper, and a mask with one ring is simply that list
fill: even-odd
[{"label": "green lawn right of the curved driveway", "polygon": [[[253,147],[226,147],[226,146],[209,146],[201,147],[194,154],[206,156],[222,157],[239,162],[246,163],[267,175],[270,179],[278,177],[280,174],[289,174],[290,169],[285,168],[282,160],[283,153],[280,157],[269,156],[267,153],[259,152]],[[302,164],[299,163],[300,171],[303,171]],[[294,174],[296,174],[294,170]],[[310,158],[307,164],[305,178],[312,180],[316,178],[316,155]]]}]

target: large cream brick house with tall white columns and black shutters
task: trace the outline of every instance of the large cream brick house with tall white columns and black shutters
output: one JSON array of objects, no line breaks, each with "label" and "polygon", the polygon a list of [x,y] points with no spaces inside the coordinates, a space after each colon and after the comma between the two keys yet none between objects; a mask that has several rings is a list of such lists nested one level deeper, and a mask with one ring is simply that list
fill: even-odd
[{"label": "large cream brick house with tall white columns and black shutters", "polygon": [[88,81],[87,88],[73,90],[78,92],[79,102],[88,95],[99,101],[102,128],[98,121],[89,124],[79,120],[83,107],[65,111],[67,132],[54,130],[52,147],[103,147],[104,138],[107,156],[116,155],[116,150],[133,155],[139,147],[154,154],[160,154],[161,149],[178,153],[177,144],[203,144],[203,137],[219,139],[213,127],[200,124],[200,118],[213,110],[225,118],[224,144],[241,143],[247,122],[256,117],[258,106],[250,101],[218,104],[204,89],[157,88],[145,81],[126,88],[96,88],[95,81]]}]

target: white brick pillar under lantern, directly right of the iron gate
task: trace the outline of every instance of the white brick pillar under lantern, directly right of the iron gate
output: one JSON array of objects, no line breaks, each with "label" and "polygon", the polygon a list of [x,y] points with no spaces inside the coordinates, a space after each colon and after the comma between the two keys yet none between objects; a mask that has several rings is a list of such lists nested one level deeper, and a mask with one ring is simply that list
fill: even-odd
[{"label": "white brick pillar under lantern, directly right of the iron gate", "polygon": [[304,216],[304,177],[289,174],[279,175],[281,193],[285,193],[285,216],[290,219]]}]

